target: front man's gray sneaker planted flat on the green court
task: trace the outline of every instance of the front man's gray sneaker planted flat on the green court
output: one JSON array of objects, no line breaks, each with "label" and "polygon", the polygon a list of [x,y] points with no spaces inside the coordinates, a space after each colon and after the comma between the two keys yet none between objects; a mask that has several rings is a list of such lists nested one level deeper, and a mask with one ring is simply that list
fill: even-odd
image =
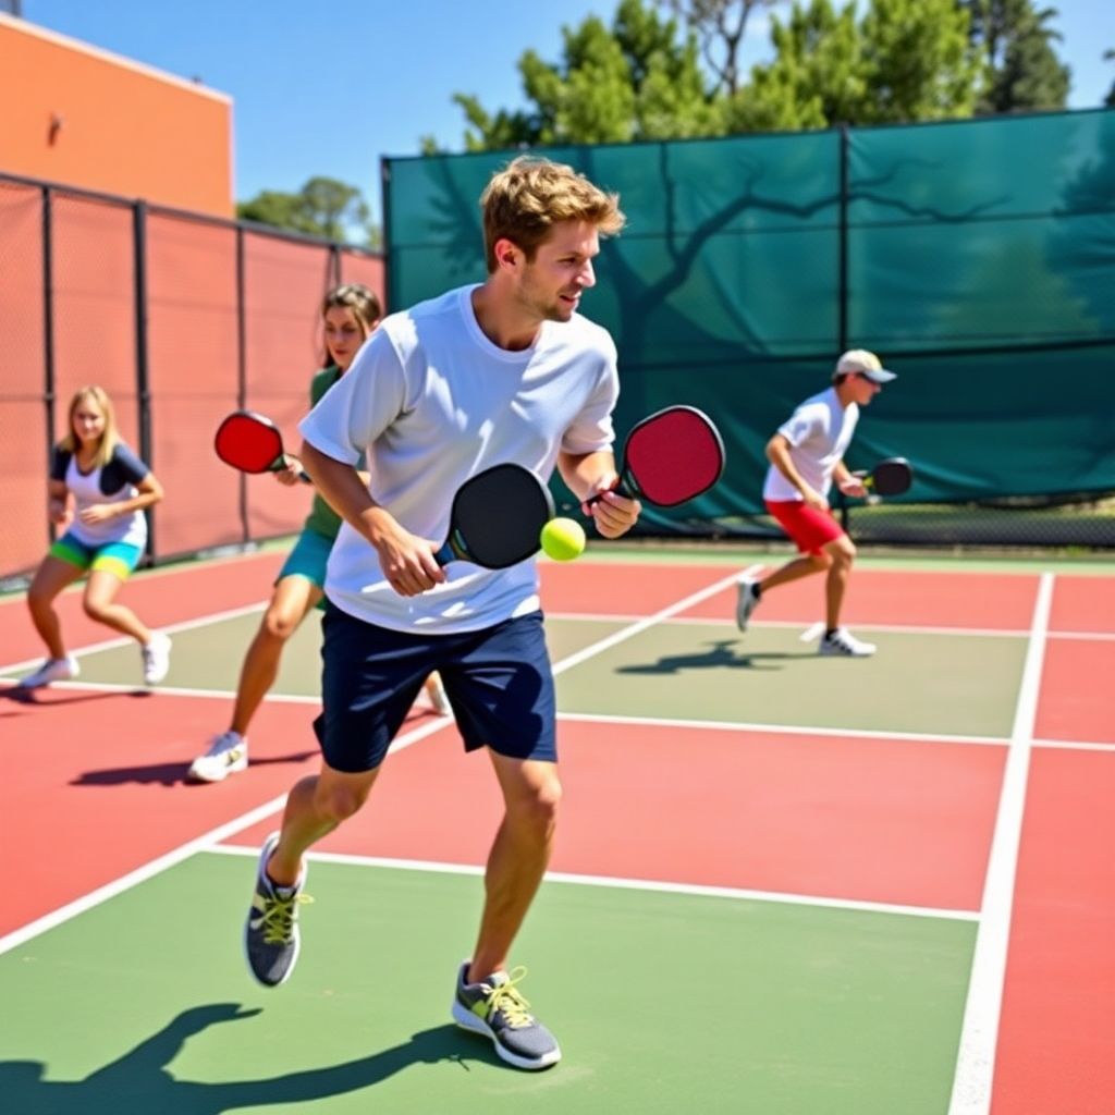
[{"label": "front man's gray sneaker planted flat on the green court", "polygon": [[453,1020],[492,1039],[495,1051],[516,1068],[549,1068],[561,1060],[554,1036],[527,1011],[530,1004],[518,991],[526,975],[520,966],[510,975],[493,972],[479,983],[466,983],[466,960],[457,972],[457,993],[453,999]]}]

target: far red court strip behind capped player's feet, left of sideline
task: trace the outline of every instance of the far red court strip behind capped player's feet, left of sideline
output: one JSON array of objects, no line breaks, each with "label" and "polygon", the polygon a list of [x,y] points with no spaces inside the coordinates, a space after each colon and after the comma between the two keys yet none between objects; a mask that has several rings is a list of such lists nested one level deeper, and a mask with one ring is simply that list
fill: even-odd
[{"label": "far red court strip behind capped player's feet, left of sideline", "polygon": [[[1037,576],[1025,573],[856,570],[849,582],[843,619],[852,626],[867,627],[901,623],[1028,631],[1034,620],[1037,586]],[[735,602],[735,589],[730,589],[701,601],[683,614],[701,619],[734,618]],[[814,576],[782,585],[764,597],[754,622],[812,623],[823,618],[824,581]]]}]

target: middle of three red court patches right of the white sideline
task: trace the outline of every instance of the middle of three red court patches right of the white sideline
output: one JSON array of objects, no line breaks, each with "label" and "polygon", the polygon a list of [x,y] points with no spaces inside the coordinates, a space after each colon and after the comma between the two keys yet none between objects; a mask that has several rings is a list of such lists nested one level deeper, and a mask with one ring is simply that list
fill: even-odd
[{"label": "middle of three red court patches right of the white sideline", "polygon": [[1115,640],[1048,639],[1035,737],[1115,744],[1113,677]]}]

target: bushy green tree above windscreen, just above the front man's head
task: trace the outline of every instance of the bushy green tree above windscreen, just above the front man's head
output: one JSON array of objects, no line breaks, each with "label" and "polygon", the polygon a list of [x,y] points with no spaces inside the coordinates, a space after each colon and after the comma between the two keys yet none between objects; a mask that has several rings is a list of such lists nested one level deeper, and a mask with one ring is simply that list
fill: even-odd
[{"label": "bushy green tree above windscreen, just above the front man's head", "polygon": [[642,0],[621,0],[612,28],[595,16],[562,29],[563,57],[518,60],[530,109],[488,113],[472,95],[454,100],[471,130],[468,151],[535,144],[626,143],[716,135],[724,130],[717,98],[705,87],[696,38],[679,41],[676,20],[661,20]]}]

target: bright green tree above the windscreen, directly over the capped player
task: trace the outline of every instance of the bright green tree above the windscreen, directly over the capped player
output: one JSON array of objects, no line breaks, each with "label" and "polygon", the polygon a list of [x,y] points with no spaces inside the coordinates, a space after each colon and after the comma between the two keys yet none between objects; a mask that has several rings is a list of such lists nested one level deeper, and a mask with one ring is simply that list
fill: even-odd
[{"label": "bright green tree above the windscreen, directly over the capped player", "polygon": [[795,0],[773,18],[773,61],[733,98],[731,132],[904,124],[970,116],[979,64],[954,0]]}]

